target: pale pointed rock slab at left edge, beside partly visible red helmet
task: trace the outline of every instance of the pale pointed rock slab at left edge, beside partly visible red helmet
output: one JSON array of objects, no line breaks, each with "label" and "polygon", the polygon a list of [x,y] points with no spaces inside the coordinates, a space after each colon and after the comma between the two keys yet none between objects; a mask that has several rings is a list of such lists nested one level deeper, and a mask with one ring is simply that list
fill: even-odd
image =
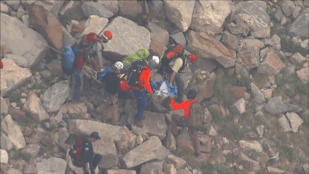
[{"label": "pale pointed rock slab at left edge, beside partly visible red helmet", "polygon": [[26,82],[30,78],[31,72],[27,68],[17,66],[13,59],[3,58],[1,61],[3,69],[1,69],[0,90],[1,96],[4,96]]}]

